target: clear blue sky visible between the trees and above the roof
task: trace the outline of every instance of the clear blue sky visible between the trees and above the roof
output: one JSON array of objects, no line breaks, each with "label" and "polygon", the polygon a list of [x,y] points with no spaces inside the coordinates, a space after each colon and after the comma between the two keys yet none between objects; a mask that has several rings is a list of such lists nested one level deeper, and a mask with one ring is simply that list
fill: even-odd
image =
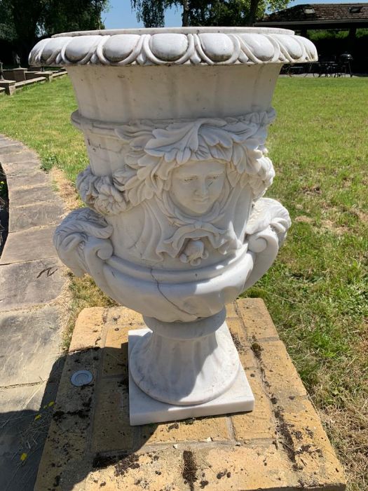
[{"label": "clear blue sky visible between the trees and above the roof", "polygon": [[[290,6],[299,4],[356,4],[359,0],[344,0],[336,2],[336,0],[295,0],[290,2]],[[362,2],[359,2],[362,3]],[[365,2],[363,2],[365,3]],[[110,8],[108,12],[102,14],[102,20],[106,29],[122,29],[132,27],[144,27],[142,22],[137,22],[135,12],[130,8],[130,0],[110,0]],[[177,27],[182,25],[180,12],[175,8],[168,10],[165,13],[165,27]]]}]

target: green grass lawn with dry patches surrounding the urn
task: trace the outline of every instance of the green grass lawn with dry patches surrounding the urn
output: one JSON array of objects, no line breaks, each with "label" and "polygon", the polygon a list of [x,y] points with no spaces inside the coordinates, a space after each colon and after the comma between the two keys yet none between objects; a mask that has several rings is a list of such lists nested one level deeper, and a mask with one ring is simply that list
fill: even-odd
[{"label": "green grass lawn with dry patches surrounding the urn", "polygon": [[[368,490],[367,100],[367,79],[279,79],[267,196],[289,210],[293,226],[271,271],[246,293],[264,298],[350,491]],[[69,79],[34,86],[0,98],[0,133],[74,181],[88,161],[69,123],[74,109]],[[71,325],[81,308],[109,304],[88,278],[71,276],[71,290]]]}]

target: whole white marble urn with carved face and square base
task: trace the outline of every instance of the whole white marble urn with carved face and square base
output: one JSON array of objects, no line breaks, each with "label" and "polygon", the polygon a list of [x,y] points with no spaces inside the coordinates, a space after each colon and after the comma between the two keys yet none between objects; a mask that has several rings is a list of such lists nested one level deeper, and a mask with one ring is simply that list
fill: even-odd
[{"label": "whole white marble urn with carved face and square base", "polygon": [[129,337],[131,424],[252,410],[224,306],[289,228],[262,197],[271,99],[283,64],[316,59],[292,31],[249,27],[72,32],[30,53],[67,67],[90,159],[57,252],[147,325]]}]

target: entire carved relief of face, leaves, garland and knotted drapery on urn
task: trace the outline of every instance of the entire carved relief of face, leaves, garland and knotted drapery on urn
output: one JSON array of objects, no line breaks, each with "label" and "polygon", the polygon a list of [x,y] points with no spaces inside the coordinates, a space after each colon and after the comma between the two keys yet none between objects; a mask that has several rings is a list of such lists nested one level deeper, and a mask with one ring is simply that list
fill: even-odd
[{"label": "entire carved relief of face, leaves, garland and knotted drapery on urn", "polygon": [[[243,234],[233,228],[232,215],[241,189],[249,187],[252,201],[257,201],[272,183],[265,140],[274,117],[269,109],[237,118],[133,121],[109,130],[107,123],[81,119],[81,126],[92,133],[111,131],[129,150],[112,175],[97,176],[88,167],[77,187],[83,201],[102,215],[144,205],[142,233],[154,234],[156,246],[142,251],[142,257],[162,261],[166,253],[198,265],[209,255],[207,245],[222,255],[242,247]],[[197,179],[211,184],[199,201],[189,192],[189,181]]]}]

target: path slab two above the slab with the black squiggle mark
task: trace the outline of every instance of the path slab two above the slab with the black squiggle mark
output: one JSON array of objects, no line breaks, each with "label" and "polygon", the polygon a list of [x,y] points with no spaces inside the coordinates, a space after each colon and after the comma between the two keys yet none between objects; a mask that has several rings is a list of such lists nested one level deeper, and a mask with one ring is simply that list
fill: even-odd
[{"label": "path slab two above the slab with the black squiggle mark", "polygon": [[10,203],[9,231],[15,232],[48,224],[59,224],[63,214],[64,209],[60,201],[59,203],[39,203],[26,206],[12,206]]}]

